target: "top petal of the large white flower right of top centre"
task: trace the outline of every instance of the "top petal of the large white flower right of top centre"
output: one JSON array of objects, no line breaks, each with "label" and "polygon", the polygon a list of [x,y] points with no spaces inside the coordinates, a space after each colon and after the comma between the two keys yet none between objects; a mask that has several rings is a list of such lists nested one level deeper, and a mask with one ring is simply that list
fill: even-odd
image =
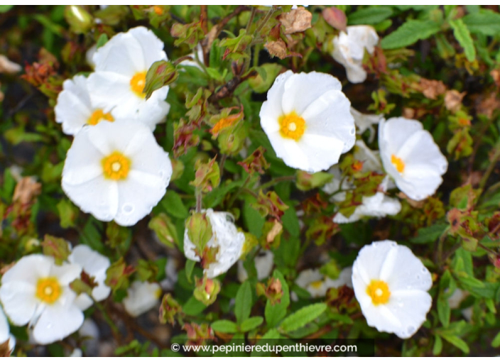
[{"label": "top petal of the large white flower right of top centre", "polygon": [[[288,77],[285,82],[285,92],[281,103],[284,114],[295,111],[302,115],[305,109],[330,90],[340,91],[342,84],[339,79],[326,73],[298,73]],[[350,106],[350,104],[349,104]]]}]

